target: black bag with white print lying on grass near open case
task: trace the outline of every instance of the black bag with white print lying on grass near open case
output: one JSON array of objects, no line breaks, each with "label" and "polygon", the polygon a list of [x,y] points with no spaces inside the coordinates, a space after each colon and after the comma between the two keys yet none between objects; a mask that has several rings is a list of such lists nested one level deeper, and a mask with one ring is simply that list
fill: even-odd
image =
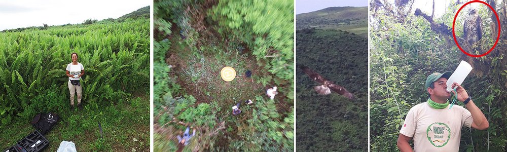
[{"label": "black bag with white print lying on grass near open case", "polygon": [[33,125],[33,127],[37,128],[42,134],[46,134],[48,131],[53,129],[53,127],[58,122],[58,115],[56,113],[50,112],[50,113],[39,113],[35,115],[33,120],[30,122],[30,124]]}]

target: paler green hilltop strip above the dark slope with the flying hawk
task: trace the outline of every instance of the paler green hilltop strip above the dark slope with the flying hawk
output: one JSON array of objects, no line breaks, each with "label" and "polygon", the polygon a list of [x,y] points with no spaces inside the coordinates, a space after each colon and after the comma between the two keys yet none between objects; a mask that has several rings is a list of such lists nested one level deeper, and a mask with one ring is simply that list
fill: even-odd
[{"label": "paler green hilltop strip above the dark slope with the flying hawk", "polygon": [[330,7],[296,16],[296,29],[338,29],[368,36],[368,7]]}]

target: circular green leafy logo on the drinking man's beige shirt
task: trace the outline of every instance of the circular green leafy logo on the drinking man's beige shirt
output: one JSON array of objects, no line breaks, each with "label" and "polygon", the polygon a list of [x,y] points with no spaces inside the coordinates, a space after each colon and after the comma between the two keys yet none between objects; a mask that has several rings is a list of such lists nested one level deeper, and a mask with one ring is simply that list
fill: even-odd
[{"label": "circular green leafy logo on the drinking man's beige shirt", "polygon": [[433,123],[426,129],[426,137],[433,146],[443,147],[451,138],[451,128],[444,123]]}]

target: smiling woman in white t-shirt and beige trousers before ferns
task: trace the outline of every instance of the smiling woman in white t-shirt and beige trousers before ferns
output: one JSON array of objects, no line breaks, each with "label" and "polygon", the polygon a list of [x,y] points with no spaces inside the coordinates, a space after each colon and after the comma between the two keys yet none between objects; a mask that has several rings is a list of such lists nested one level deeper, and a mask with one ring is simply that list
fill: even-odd
[{"label": "smiling woman in white t-shirt and beige trousers before ferns", "polygon": [[74,94],[78,93],[78,107],[80,110],[83,109],[81,105],[81,97],[83,92],[83,86],[79,80],[85,74],[85,68],[83,64],[78,62],[78,54],[72,53],[70,54],[72,57],[72,62],[67,65],[67,77],[68,77],[68,90],[70,91],[70,106],[74,109]]}]

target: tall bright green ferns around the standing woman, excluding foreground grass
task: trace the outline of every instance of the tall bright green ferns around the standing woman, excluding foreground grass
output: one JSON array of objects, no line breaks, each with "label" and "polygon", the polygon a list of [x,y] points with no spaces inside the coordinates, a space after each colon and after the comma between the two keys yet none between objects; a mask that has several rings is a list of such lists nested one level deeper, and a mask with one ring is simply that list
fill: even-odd
[{"label": "tall bright green ferns around the standing woman, excluding foreground grass", "polygon": [[8,123],[10,120],[4,116],[19,116],[24,106],[44,93],[68,99],[65,68],[73,52],[78,53],[85,67],[85,103],[125,100],[130,93],[147,93],[149,29],[148,19],[136,19],[0,32],[0,111],[8,113],[0,119]]}]

